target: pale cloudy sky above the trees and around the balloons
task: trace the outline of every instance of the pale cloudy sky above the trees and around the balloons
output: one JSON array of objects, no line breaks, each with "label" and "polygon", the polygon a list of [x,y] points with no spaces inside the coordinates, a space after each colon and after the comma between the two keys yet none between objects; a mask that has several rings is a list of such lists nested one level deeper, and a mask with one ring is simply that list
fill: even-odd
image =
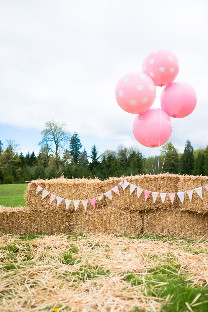
[{"label": "pale cloudy sky above the trees and around the balloons", "polygon": [[[170,141],[183,152],[208,144],[208,2],[206,0],[0,1],[0,140],[39,152],[46,121],[65,122],[90,154],[119,145],[148,149],[134,138],[135,115],[115,100],[121,76],[142,71],[157,48],[176,54],[175,81],[196,90],[191,115],[173,119]],[[158,107],[160,87],[153,106]]]}]

